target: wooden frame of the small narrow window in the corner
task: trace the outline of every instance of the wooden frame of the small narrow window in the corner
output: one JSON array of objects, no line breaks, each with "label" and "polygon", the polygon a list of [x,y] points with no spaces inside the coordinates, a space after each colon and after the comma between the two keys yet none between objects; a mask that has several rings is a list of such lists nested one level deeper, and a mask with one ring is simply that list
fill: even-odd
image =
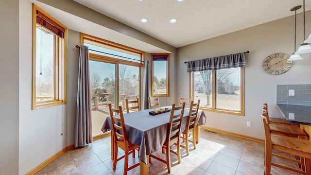
[{"label": "wooden frame of the small narrow window in the corner", "polygon": [[[154,93],[154,56],[166,56],[166,94]],[[151,54],[151,96],[152,97],[170,97],[170,53],[152,53]]]}]

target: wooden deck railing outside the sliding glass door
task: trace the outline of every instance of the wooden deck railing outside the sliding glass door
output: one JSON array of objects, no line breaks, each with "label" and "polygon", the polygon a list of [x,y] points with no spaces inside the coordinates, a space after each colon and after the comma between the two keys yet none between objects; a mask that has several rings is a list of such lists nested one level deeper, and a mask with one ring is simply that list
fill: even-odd
[{"label": "wooden deck railing outside the sliding glass door", "polygon": [[[101,105],[108,106],[109,103],[112,106],[116,106],[115,105],[115,94],[111,94],[111,93],[92,94],[91,97],[92,97],[91,99],[92,110],[98,110],[98,107]],[[123,109],[125,110],[125,99],[128,99],[131,101],[136,98],[139,98],[139,96],[120,94],[119,98],[120,98],[119,105],[121,105]]]}]

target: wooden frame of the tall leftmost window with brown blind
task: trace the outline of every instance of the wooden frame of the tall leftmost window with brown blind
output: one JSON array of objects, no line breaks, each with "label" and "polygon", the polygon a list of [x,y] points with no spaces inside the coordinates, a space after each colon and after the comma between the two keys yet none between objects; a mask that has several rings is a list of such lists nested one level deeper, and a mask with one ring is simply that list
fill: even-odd
[{"label": "wooden frame of the tall leftmost window with brown blind", "polygon": [[[36,101],[36,24],[37,11],[64,29],[64,38],[54,34],[53,57],[53,99]],[[43,27],[44,28],[44,27]],[[48,30],[48,29],[47,29]],[[50,30],[49,30],[50,31]],[[32,110],[67,103],[67,27],[33,4],[33,68],[32,68]]]}]

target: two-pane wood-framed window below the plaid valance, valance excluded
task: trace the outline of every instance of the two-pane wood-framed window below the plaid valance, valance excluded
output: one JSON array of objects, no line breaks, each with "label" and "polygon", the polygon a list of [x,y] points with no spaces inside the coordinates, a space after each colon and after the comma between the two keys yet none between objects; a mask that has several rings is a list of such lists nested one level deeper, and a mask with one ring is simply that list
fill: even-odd
[{"label": "two-pane wood-framed window below the plaid valance, valance excluded", "polygon": [[244,115],[244,68],[191,72],[194,101],[215,112]]}]

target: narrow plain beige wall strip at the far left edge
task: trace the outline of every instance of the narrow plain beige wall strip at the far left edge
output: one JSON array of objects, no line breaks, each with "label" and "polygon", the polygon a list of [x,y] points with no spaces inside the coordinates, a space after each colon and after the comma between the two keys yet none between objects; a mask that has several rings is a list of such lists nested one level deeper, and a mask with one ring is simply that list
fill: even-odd
[{"label": "narrow plain beige wall strip at the far left edge", "polygon": [[0,5],[0,175],[18,174],[18,7]]}]

